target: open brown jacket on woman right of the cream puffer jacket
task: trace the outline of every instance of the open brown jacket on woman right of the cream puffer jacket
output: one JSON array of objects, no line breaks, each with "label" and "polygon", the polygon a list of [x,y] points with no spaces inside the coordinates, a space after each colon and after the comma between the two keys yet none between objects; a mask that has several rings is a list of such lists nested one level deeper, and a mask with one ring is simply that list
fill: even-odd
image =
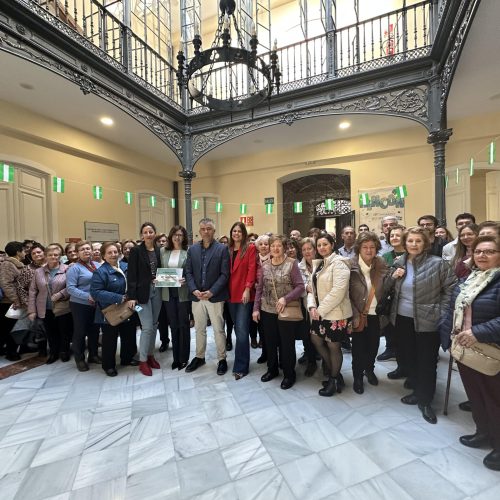
[{"label": "open brown jacket on woman right of the cream puffer jacket", "polygon": [[[351,258],[351,280],[349,284],[349,296],[351,298],[353,321],[356,323],[361,313],[366,307],[369,290],[366,286],[366,279],[359,266],[359,256]],[[370,281],[376,283],[375,298],[377,302],[384,295],[384,278],[388,267],[382,257],[375,257],[370,268]],[[373,304],[373,302],[372,302]]]}]

